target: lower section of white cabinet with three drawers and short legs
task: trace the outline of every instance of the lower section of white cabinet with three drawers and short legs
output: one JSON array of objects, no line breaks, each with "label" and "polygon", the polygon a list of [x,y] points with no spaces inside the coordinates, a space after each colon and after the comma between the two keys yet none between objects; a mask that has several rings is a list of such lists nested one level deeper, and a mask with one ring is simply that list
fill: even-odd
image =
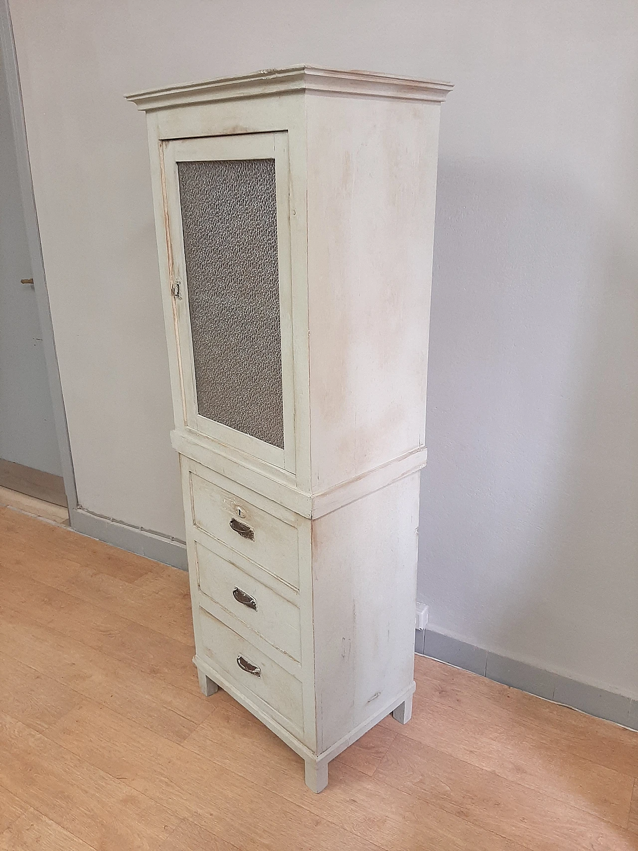
[{"label": "lower section of white cabinet with three drawers and short legs", "polygon": [[419,475],[304,517],[181,458],[200,688],[217,686],[305,761],[412,705]]}]

